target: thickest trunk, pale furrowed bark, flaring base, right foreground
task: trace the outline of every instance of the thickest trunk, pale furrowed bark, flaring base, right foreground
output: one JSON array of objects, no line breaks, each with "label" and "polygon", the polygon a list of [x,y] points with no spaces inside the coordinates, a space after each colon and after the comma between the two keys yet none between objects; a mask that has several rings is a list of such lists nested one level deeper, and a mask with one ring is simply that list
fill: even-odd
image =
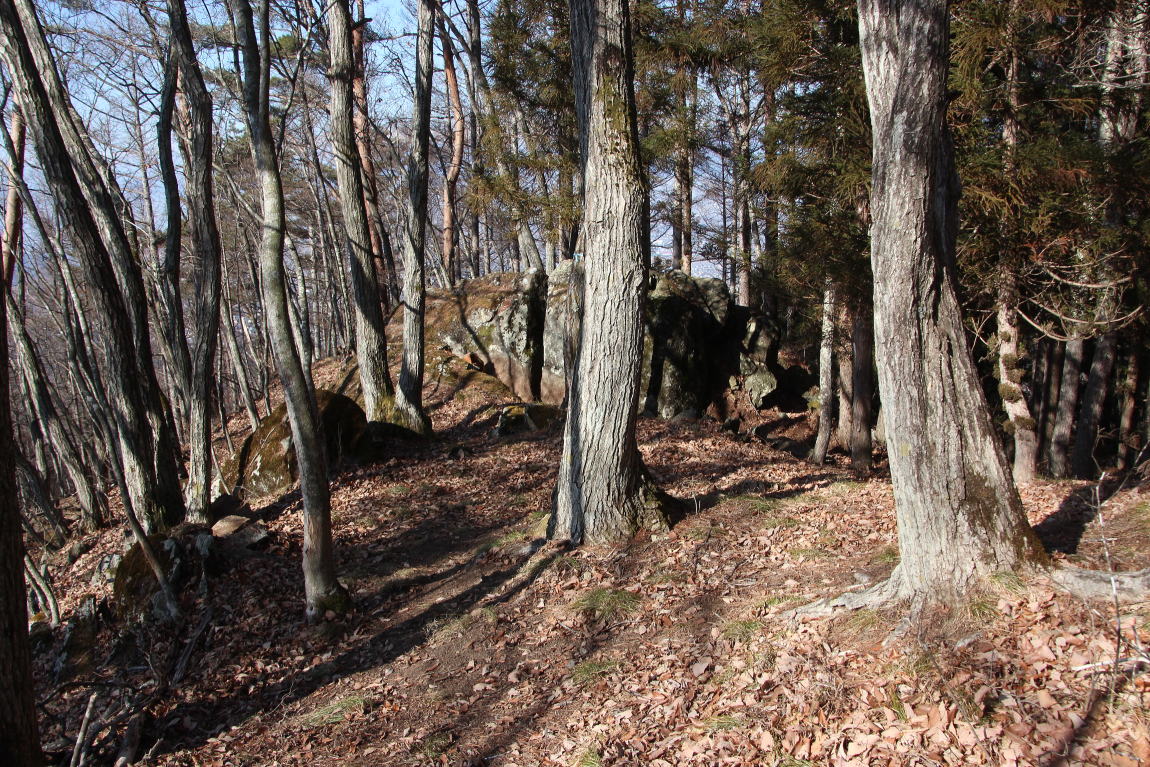
[{"label": "thickest trunk, pale furrowed bark, flaring base, right foreground", "polygon": [[885,588],[915,600],[953,598],[980,576],[1044,557],[991,424],[954,291],[948,13],[945,0],[859,0],[879,385],[902,554]]}]

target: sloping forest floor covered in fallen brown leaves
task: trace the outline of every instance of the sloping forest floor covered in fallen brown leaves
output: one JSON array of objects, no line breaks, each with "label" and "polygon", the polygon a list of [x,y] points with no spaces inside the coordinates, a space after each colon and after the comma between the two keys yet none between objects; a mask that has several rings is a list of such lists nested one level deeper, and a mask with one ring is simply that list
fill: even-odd
[{"label": "sloping forest floor covered in fallen brown leaves", "polygon": [[[444,396],[429,382],[434,440],[334,482],[346,619],[302,620],[290,496],[255,508],[266,547],[186,595],[178,630],[103,621],[100,660],[69,682],[41,650],[46,741],[64,764],[92,691],[98,719],[187,642],[141,764],[1150,764],[1150,669],[1130,645],[1147,605],[1004,574],[897,639],[897,609],[787,615],[897,561],[881,466],[860,480],[842,457],[814,467],[708,421],[644,419],[643,458],[687,514],[669,534],[564,551],[539,540],[560,427],[493,437],[505,402]],[[1095,491],[1022,496],[1057,560],[1150,565],[1150,485],[1104,489],[1102,514]],[[53,560],[66,619],[109,596],[91,576],[122,542],[106,531],[71,567]],[[121,737],[93,734],[93,761]]]}]

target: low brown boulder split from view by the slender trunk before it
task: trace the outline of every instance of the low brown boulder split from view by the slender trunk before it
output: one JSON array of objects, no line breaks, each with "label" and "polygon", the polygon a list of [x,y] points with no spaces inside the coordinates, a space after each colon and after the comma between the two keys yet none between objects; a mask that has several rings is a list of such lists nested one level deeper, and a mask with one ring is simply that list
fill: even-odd
[{"label": "low brown boulder split from view by the slender trunk before it", "polygon": [[[330,466],[343,458],[359,459],[369,445],[365,439],[367,415],[353,399],[325,389],[315,392]],[[260,421],[254,432],[220,469],[223,492],[238,498],[282,496],[299,481],[288,408],[281,404]]]}]

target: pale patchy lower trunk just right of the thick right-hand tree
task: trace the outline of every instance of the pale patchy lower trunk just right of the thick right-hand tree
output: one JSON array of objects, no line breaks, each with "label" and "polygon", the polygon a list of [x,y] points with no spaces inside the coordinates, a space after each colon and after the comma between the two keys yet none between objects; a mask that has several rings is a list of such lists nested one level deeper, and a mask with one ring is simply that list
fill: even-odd
[{"label": "pale patchy lower trunk just right of the thick right-hand tree", "polygon": [[998,289],[998,394],[1006,411],[1007,431],[1014,437],[1014,482],[1033,482],[1038,465],[1038,435],[1030,407],[1022,393],[1021,345],[1019,344],[1018,289],[1014,274],[1004,270]]}]

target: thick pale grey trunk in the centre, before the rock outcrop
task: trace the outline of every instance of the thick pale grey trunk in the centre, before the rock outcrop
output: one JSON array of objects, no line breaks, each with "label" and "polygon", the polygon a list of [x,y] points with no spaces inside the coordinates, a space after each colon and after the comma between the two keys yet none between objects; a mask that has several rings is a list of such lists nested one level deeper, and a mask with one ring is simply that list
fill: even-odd
[{"label": "thick pale grey trunk in the centre, before the rock outcrop", "polygon": [[627,0],[570,0],[584,176],[585,292],[549,534],[606,543],[665,528],[635,437],[643,354],[643,197]]}]

